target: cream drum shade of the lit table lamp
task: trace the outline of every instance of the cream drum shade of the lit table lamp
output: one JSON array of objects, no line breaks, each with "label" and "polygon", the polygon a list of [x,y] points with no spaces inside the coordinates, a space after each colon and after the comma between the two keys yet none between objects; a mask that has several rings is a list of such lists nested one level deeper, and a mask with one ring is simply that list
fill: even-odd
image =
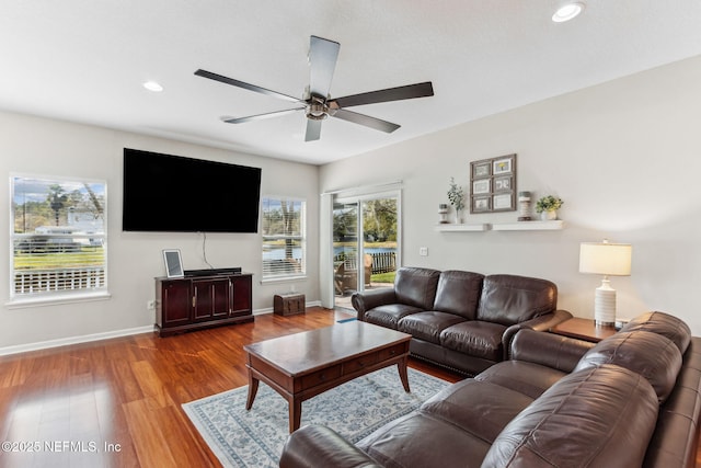
[{"label": "cream drum shade of the lit table lamp", "polygon": [[579,273],[630,276],[632,250],[630,243],[582,242]]}]

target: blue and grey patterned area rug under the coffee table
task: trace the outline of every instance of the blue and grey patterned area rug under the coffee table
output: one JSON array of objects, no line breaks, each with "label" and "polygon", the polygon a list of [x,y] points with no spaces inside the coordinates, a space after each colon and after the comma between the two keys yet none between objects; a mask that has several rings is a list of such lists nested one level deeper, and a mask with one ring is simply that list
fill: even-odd
[{"label": "blue and grey patterned area rug under the coffee table", "polygon": [[[301,425],[323,424],[355,443],[402,416],[449,384],[409,369],[406,393],[397,366],[358,377],[302,402]],[[225,467],[277,467],[289,435],[287,401],[261,383],[251,411],[248,386],[183,404]]]}]

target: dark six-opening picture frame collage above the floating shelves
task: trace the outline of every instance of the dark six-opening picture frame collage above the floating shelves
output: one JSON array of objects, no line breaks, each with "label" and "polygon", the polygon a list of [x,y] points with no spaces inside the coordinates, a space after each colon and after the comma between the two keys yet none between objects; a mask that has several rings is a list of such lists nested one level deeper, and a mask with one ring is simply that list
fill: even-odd
[{"label": "dark six-opening picture frame collage above the floating shelves", "polygon": [[516,210],[516,153],[470,162],[470,213]]}]

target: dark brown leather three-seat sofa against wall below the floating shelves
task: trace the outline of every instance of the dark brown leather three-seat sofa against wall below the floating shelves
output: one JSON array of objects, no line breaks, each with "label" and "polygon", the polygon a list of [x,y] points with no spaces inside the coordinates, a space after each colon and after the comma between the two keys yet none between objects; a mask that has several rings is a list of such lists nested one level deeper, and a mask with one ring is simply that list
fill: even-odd
[{"label": "dark brown leather three-seat sofa against wall below the floating shelves", "polygon": [[410,333],[413,356],[474,375],[504,359],[520,328],[548,330],[572,315],[558,310],[558,286],[526,276],[402,267],[393,288],[355,293],[358,320]]}]

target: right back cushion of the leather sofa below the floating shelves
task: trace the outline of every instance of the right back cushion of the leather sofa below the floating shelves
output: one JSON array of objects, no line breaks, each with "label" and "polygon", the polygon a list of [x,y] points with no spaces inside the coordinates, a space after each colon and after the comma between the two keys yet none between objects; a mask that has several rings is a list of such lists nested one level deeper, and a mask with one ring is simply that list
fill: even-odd
[{"label": "right back cushion of the leather sofa below the floating shelves", "polygon": [[558,286],[547,279],[516,275],[490,275],[484,278],[478,320],[513,326],[553,312],[558,306]]}]

